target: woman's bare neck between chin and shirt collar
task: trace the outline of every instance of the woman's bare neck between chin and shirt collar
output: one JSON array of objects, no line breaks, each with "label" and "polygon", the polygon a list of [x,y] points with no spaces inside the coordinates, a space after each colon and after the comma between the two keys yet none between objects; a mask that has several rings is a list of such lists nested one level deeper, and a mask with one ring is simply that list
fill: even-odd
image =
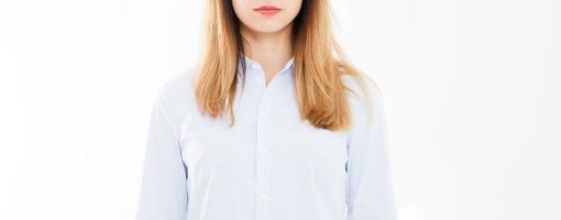
[{"label": "woman's bare neck between chin and shirt collar", "polygon": [[243,45],[245,55],[258,62],[267,79],[282,70],[293,56],[292,26],[290,23],[274,33],[256,33],[244,25],[240,29],[242,36],[246,40],[246,44]]}]

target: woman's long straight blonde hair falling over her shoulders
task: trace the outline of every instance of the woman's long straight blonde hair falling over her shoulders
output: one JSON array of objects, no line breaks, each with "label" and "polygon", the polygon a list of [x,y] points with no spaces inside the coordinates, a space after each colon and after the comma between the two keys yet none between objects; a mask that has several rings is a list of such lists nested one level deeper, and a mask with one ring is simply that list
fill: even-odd
[{"label": "woman's long straight blonde hair falling over her shoulders", "polygon": [[[367,76],[346,59],[331,32],[330,19],[329,1],[302,0],[292,30],[294,89],[300,119],[316,128],[348,130],[352,117],[345,91],[350,88],[344,86],[341,75],[352,76],[363,90],[367,89],[363,79]],[[240,21],[231,0],[207,0],[202,28],[202,56],[195,88],[197,105],[212,118],[228,110],[233,125],[239,62],[245,72],[243,56],[239,56],[245,40],[240,34]]]}]

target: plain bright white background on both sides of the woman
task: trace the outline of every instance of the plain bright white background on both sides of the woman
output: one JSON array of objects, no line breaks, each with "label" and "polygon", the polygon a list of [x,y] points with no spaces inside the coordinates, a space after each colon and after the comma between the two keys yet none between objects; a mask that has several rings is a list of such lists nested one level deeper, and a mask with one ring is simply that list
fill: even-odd
[{"label": "plain bright white background on both sides of the woman", "polygon": [[[274,2],[274,1],[271,1]],[[202,0],[0,1],[0,219],[133,219]],[[561,3],[332,1],[386,98],[400,220],[561,219]]]}]

